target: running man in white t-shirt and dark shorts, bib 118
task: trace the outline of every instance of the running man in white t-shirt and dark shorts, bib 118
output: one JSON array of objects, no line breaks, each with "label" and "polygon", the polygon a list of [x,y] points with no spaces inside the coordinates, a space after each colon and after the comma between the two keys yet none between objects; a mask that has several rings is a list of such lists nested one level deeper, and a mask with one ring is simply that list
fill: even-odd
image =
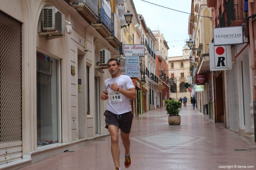
[{"label": "running man in white t-shirt and dark shorts, bib 118", "polygon": [[108,100],[104,113],[106,128],[111,137],[111,154],[115,164],[115,170],[120,170],[120,147],[118,145],[118,131],[120,130],[125,149],[124,166],[131,164],[130,158],[130,130],[132,127],[132,107],[130,99],[136,99],[136,90],[129,76],[120,74],[120,62],[117,59],[109,59],[107,62],[111,78],[105,80],[101,100]]}]

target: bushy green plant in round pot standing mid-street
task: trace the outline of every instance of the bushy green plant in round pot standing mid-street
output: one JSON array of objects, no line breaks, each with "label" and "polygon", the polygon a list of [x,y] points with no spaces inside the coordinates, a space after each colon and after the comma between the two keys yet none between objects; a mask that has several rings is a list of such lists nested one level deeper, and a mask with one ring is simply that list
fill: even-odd
[{"label": "bushy green plant in round pot standing mid-street", "polygon": [[180,125],[180,102],[174,99],[165,100],[169,125]]}]

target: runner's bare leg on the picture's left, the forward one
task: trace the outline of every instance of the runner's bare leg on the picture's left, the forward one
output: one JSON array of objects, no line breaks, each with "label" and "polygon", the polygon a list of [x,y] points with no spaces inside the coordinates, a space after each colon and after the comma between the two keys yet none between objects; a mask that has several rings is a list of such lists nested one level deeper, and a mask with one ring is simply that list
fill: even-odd
[{"label": "runner's bare leg on the picture's left, the forward one", "polygon": [[120,147],[118,145],[118,130],[115,125],[108,125],[110,137],[111,137],[111,154],[115,167],[120,167]]}]

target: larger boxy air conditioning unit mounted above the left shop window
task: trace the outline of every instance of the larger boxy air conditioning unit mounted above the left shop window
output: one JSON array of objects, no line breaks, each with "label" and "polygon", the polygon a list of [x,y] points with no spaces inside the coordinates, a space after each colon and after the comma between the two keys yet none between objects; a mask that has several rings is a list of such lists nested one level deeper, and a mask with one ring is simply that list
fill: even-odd
[{"label": "larger boxy air conditioning unit mounted above the left shop window", "polygon": [[42,30],[51,32],[49,35],[65,34],[65,15],[55,6],[46,6],[42,9]]}]

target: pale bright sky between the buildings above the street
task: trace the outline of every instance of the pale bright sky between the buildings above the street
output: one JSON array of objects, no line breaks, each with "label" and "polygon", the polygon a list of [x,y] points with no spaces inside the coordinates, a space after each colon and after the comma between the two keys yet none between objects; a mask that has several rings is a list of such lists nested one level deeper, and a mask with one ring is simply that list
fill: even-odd
[{"label": "pale bright sky between the buildings above the street", "polygon": [[[191,12],[191,0],[146,0],[183,12]],[[142,14],[151,31],[159,30],[168,42],[168,57],[182,55],[188,36],[189,14],[160,7],[142,0],[133,0],[138,14]]]}]

